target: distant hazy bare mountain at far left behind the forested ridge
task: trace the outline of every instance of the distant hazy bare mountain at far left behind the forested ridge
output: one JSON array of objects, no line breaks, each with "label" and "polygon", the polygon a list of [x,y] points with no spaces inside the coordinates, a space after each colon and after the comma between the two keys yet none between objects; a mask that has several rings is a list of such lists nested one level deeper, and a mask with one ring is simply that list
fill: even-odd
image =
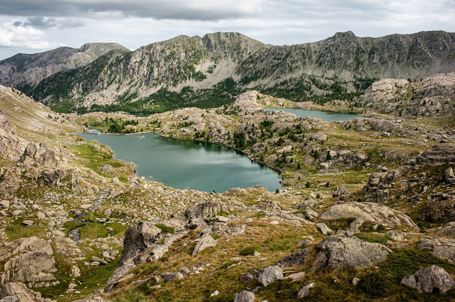
[{"label": "distant hazy bare mountain at far left behind the forested ridge", "polygon": [[87,43],[79,49],[59,47],[37,54],[16,54],[0,61],[0,84],[34,86],[52,74],[85,66],[115,49],[126,50],[118,43]]}]

